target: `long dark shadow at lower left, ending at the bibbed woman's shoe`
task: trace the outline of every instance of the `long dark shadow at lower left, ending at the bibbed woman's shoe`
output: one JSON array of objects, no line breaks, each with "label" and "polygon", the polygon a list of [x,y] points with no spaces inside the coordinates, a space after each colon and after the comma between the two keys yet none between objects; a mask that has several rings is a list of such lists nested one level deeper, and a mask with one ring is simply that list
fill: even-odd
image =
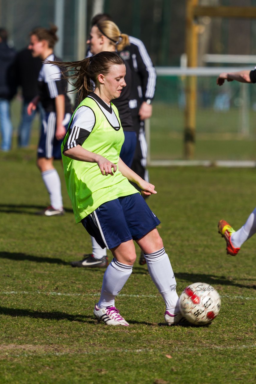
[{"label": "long dark shadow at lower left, ending at the bibbed woman's shoe", "polygon": [[32,311],[28,309],[18,309],[18,308],[7,308],[0,306],[0,314],[5,314],[13,317],[31,317],[31,318],[40,318],[40,319],[49,319],[49,320],[68,320],[68,321],[79,321],[80,323],[89,323],[95,324],[95,321],[91,316],[85,315],[74,315],[65,312],[40,312]]}]

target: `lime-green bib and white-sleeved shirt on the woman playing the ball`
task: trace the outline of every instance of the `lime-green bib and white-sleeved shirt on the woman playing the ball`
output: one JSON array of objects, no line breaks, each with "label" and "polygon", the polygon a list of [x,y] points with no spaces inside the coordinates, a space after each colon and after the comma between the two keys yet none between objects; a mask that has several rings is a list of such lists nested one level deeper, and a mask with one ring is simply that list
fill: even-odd
[{"label": "lime-green bib and white-sleeved shirt on the woman playing the ball", "polygon": [[[83,116],[83,111],[94,119],[88,130],[87,126],[75,125],[76,121],[81,122],[76,116],[79,113]],[[138,191],[121,174],[118,166],[113,176],[102,175],[97,163],[73,160],[63,152],[79,144],[117,164],[123,142],[124,132],[116,107],[112,103],[107,106],[94,93],[85,98],[72,116],[61,147],[66,186],[77,223],[107,201]]]}]

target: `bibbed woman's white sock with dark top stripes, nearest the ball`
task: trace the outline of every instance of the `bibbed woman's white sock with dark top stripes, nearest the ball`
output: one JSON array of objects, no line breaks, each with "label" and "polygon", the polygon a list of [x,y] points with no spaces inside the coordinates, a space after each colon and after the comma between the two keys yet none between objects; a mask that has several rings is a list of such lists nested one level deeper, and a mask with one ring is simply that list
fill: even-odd
[{"label": "bibbed woman's white sock with dark top stripes, nearest the ball", "polygon": [[147,261],[150,277],[161,293],[166,309],[172,314],[180,312],[178,308],[176,280],[165,249],[162,248],[154,253],[144,253],[144,256]]}]

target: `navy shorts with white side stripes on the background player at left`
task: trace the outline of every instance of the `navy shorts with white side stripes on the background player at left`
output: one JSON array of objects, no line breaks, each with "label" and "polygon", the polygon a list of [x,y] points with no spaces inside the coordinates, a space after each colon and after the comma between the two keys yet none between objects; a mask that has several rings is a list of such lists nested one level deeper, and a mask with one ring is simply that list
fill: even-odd
[{"label": "navy shorts with white side stripes on the background player at left", "polygon": [[[68,130],[68,124],[71,119],[71,114],[66,113],[63,125]],[[61,144],[63,139],[57,140],[56,132],[56,113],[45,112],[41,126],[41,134],[37,148],[37,157],[46,157],[46,159],[61,159]]]}]

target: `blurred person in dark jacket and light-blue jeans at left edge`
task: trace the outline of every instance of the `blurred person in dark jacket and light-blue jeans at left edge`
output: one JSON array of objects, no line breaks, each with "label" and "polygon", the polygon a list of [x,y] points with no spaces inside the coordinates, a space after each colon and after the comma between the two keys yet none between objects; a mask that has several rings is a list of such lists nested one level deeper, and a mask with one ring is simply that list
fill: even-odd
[{"label": "blurred person in dark jacket and light-blue jeans at left edge", "polygon": [[16,52],[7,44],[8,33],[0,28],[0,125],[2,151],[12,147],[12,122],[10,118],[10,101],[16,93],[14,60]]}]

